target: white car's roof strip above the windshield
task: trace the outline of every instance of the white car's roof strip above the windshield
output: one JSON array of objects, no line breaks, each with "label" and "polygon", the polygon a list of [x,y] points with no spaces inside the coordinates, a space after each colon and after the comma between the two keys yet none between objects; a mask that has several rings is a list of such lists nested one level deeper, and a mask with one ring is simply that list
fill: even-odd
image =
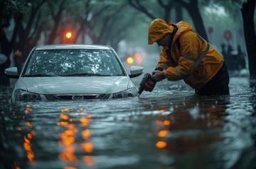
[{"label": "white car's roof strip above the windshield", "polygon": [[103,45],[45,45],[36,46],[35,50],[48,50],[48,49],[102,49],[110,50],[110,46]]}]

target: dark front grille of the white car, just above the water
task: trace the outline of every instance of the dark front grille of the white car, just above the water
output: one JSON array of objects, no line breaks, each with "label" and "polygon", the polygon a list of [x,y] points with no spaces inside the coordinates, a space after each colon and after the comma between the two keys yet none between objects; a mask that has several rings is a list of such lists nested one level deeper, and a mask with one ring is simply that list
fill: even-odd
[{"label": "dark front grille of the white car, just above the water", "polygon": [[90,99],[107,99],[110,94],[46,94],[47,100],[90,100]]}]

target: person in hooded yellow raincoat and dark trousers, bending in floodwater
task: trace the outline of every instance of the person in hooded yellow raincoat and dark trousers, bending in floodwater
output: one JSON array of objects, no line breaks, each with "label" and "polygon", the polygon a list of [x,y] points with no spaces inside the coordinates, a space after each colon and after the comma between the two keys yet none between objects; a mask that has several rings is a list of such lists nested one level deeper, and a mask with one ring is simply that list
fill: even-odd
[{"label": "person in hooded yellow raincoat and dark trousers, bending in floodwater", "polygon": [[154,19],[149,25],[149,44],[162,46],[153,78],[183,79],[200,95],[228,95],[229,75],[221,54],[184,21],[168,24]]}]

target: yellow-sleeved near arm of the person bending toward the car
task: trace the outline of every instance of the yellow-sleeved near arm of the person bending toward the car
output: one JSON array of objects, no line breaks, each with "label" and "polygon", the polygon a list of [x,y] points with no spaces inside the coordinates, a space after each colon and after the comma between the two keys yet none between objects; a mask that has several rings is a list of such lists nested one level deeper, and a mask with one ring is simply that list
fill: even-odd
[{"label": "yellow-sleeved near arm of the person bending toward the car", "polygon": [[181,80],[191,73],[200,47],[197,34],[194,32],[183,34],[177,41],[181,44],[181,56],[178,59],[178,66],[169,66],[164,72],[166,78],[171,81]]}]

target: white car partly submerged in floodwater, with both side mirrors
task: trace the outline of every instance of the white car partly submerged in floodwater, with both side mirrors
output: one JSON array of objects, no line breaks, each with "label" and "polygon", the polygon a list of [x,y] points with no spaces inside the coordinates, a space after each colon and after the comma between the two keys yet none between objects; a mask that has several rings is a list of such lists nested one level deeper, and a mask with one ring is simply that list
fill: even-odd
[{"label": "white car partly submerged in floodwater, with both side mirrors", "polygon": [[6,76],[18,78],[12,101],[86,100],[137,96],[130,78],[142,67],[124,69],[109,46],[37,46],[29,54],[21,73],[6,68]]}]

